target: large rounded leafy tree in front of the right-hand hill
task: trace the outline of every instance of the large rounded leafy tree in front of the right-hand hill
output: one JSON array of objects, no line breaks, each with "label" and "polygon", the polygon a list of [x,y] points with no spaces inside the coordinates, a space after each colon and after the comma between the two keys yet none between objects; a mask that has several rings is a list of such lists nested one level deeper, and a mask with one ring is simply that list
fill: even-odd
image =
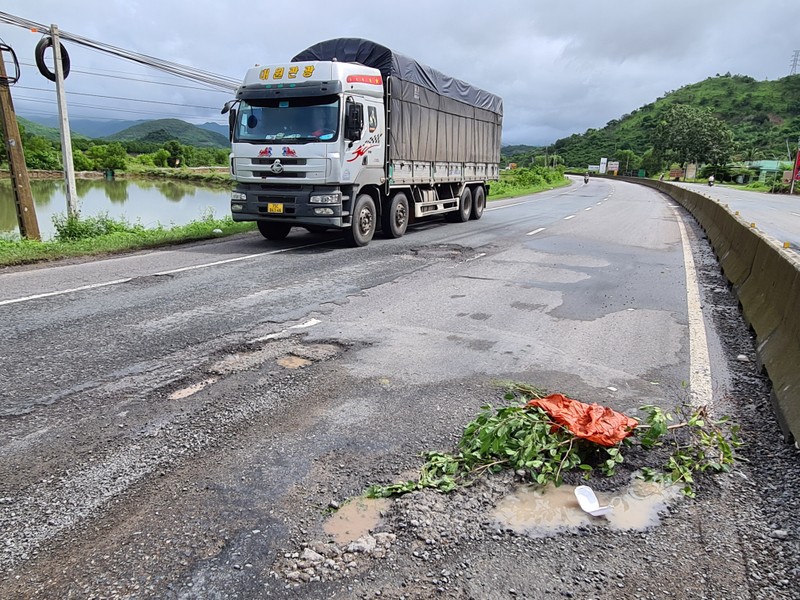
[{"label": "large rounded leafy tree in front of the right-hand hill", "polygon": [[656,127],[653,149],[681,167],[688,162],[721,165],[733,153],[733,132],[709,108],[675,104]]}]

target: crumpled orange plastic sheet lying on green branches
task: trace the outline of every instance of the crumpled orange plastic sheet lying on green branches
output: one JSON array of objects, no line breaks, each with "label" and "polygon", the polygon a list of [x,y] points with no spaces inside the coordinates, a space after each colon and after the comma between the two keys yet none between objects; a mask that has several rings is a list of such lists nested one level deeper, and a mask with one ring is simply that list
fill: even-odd
[{"label": "crumpled orange plastic sheet lying on green branches", "polygon": [[538,406],[559,425],[578,437],[601,446],[615,446],[633,433],[636,419],[597,403],[585,404],[562,394],[550,394],[528,402]]}]

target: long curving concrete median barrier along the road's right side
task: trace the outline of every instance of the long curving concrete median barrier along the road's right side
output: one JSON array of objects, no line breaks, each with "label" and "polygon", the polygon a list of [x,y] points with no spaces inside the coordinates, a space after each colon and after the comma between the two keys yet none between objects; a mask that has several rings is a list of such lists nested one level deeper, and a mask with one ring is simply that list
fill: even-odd
[{"label": "long curving concrete median barrier along the road's right side", "polygon": [[655,188],[686,208],[706,232],[756,334],[759,366],[787,442],[800,441],[800,259],[712,198],[665,181],[617,177]]}]

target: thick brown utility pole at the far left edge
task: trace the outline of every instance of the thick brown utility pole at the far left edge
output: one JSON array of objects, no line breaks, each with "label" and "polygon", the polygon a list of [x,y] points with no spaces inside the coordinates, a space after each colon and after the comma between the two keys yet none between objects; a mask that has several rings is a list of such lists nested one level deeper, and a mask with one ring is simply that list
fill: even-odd
[{"label": "thick brown utility pole at the far left edge", "polygon": [[6,135],[8,170],[11,173],[11,189],[14,192],[14,204],[17,208],[19,234],[29,240],[41,240],[42,236],[39,233],[39,222],[36,220],[36,207],[33,204],[31,182],[28,179],[28,168],[25,166],[25,154],[22,150],[17,115],[14,113],[14,103],[11,100],[11,89],[2,47],[0,47],[0,117],[3,120],[3,131]]}]

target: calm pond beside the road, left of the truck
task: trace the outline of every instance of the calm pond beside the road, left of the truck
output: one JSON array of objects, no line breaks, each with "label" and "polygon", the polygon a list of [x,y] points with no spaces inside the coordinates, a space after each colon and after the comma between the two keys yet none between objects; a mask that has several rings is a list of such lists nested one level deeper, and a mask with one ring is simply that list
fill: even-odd
[{"label": "calm pond beside the road, left of the truck", "polygon": [[[78,179],[75,188],[82,217],[106,215],[146,228],[185,225],[209,213],[221,219],[231,210],[229,189],[184,181]],[[42,239],[53,239],[53,216],[67,213],[66,184],[60,179],[32,179],[31,193]],[[10,179],[0,179],[0,239],[19,239]]]}]

